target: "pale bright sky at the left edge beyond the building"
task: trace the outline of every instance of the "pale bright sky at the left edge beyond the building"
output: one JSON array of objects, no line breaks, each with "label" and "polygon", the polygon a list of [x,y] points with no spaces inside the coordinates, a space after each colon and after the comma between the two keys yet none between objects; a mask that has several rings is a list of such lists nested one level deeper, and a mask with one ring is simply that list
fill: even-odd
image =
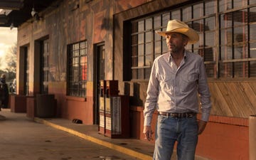
[{"label": "pale bright sky at the left edge beyond the building", "polygon": [[[9,48],[17,42],[17,28],[0,27],[0,57],[4,59],[9,53]],[[6,68],[6,64],[0,63],[0,70]]]}]

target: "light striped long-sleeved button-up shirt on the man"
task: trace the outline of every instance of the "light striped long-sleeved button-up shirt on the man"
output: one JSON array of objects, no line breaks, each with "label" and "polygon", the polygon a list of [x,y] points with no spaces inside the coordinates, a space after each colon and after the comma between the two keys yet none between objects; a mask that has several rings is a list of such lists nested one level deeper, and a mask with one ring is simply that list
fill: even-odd
[{"label": "light striped long-sleeved button-up shirt on the man", "polygon": [[144,104],[144,126],[150,126],[154,110],[158,112],[197,112],[201,102],[201,120],[208,122],[211,110],[206,71],[200,55],[184,52],[177,68],[170,53],[154,60]]}]

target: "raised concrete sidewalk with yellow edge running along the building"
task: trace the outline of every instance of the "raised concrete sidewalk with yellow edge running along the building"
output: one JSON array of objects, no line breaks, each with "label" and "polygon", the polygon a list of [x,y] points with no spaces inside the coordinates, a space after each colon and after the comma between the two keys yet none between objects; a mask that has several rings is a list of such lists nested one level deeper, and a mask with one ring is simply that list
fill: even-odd
[{"label": "raised concrete sidewalk with yellow edge running along the building", "polygon": [[[8,110],[8,109],[5,109]],[[1,112],[0,112],[1,114]],[[9,112],[9,116],[15,117],[16,115],[21,115],[21,113]],[[23,116],[26,117],[26,114],[23,113]],[[4,117],[0,117],[4,118]],[[46,124],[55,129],[60,129],[64,132],[68,132],[75,136],[78,136],[82,139],[89,140],[90,142],[94,142],[96,144],[100,144],[102,146],[106,146],[110,149],[114,149],[116,151],[120,151],[129,156],[134,156],[137,159],[143,160],[151,160],[154,152],[154,144],[149,142],[144,142],[139,139],[111,139],[110,137],[105,137],[98,132],[97,125],[85,125],[85,124],[75,124],[71,120],[68,119],[42,119],[35,117],[31,119],[34,122],[38,122],[41,124]],[[172,156],[171,160],[176,159],[176,154]],[[196,156],[196,160],[206,160],[203,157]]]}]

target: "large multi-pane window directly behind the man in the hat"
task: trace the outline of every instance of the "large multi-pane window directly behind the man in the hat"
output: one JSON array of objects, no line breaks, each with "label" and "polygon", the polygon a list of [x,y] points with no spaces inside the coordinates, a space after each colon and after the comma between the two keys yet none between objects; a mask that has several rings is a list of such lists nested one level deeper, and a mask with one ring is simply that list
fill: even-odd
[{"label": "large multi-pane window directly behind the man in the hat", "polygon": [[208,78],[256,77],[256,1],[207,0],[131,22],[132,80],[148,79],[154,59],[168,51],[155,31],[174,18],[198,32],[186,49],[203,57]]}]

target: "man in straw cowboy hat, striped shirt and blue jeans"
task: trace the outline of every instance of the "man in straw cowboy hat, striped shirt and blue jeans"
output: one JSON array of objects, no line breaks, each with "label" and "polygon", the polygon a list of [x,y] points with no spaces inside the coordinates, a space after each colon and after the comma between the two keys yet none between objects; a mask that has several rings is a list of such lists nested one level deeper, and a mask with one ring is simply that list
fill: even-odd
[{"label": "man in straw cowboy hat, striped shirt and blue jeans", "polygon": [[[146,102],[144,104],[144,135],[151,140],[151,119],[154,110],[156,123],[154,158],[170,160],[177,144],[178,160],[195,158],[198,134],[206,127],[210,115],[210,92],[203,59],[185,50],[188,43],[198,42],[196,31],[178,20],[168,22],[166,31],[156,32],[166,37],[169,53],[154,60]],[[201,119],[197,121],[198,94]]]}]

